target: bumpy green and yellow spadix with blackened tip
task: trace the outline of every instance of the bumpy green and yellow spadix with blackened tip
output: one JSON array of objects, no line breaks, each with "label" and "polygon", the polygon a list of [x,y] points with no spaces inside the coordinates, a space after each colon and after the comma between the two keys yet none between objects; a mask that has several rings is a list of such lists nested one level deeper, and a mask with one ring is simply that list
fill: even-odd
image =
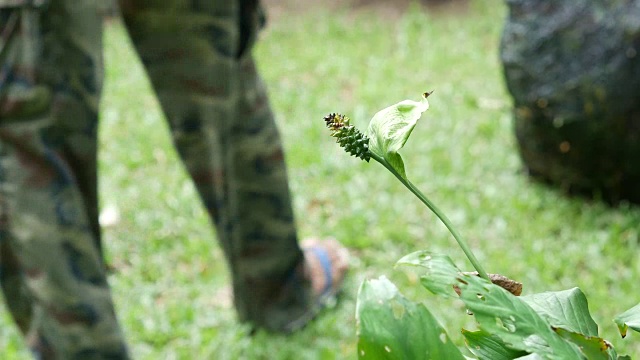
[{"label": "bumpy green and yellow spadix with blackened tip", "polygon": [[369,162],[369,138],[355,126],[350,124],[350,119],[344,115],[332,113],[324,117],[331,136],[336,138],[338,144],[349,154]]}]

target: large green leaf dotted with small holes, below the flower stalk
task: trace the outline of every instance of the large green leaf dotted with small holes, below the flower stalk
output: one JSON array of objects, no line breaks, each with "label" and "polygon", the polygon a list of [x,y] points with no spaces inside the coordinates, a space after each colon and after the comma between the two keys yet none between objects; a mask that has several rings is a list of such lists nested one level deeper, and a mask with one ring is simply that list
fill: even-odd
[{"label": "large green leaf dotted with small holes, below the flower stalk", "polygon": [[510,349],[548,359],[584,358],[576,345],[556,334],[551,325],[519,297],[485,279],[460,273],[446,256],[412,255],[401,261],[427,269],[427,275],[421,277],[425,287],[436,289],[439,294],[447,287],[458,286],[460,298],[473,312],[480,328],[500,338]]}]

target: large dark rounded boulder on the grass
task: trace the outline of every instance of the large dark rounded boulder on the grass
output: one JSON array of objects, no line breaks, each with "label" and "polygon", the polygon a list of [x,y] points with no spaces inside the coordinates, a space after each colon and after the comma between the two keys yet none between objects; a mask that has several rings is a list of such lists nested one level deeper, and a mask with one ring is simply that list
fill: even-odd
[{"label": "large dark rounded boulder on the grass", "polygon": [[640,0],[508,0],[501,42],[531,175],[640,203]]}]

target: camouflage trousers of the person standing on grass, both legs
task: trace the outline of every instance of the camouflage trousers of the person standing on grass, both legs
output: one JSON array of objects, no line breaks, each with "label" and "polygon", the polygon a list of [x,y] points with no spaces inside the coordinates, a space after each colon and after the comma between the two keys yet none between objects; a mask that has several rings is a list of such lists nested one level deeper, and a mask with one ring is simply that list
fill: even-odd
[{"label": "camouflage trousers of the person standing on grass, both legs", "polygon": [[[101,2],[0,0],[0,284],[37,358],[128,357],[98,223]],[[240,320],[292,330],[310,290],[251,56],[264,20],[258,1],[120,7],[216,226]]]}]

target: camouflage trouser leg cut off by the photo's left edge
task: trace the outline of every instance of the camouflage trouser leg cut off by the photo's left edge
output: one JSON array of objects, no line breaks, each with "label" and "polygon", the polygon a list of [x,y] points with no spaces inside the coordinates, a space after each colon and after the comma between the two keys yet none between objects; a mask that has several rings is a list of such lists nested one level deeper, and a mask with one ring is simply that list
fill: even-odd
[{"label": "camouflage trouser leg cut off by the photo's left edge", "polygon": [[99,247],[96,9],[0,9],[0,282],[43,359],[127,357]]}]

